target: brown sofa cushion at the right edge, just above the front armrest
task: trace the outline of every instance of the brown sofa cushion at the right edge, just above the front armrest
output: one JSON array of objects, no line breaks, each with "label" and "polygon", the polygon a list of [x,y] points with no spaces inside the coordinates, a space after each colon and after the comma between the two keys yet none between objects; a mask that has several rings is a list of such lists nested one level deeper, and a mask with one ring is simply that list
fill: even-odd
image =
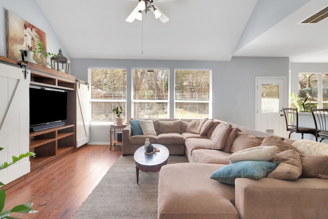
[{"label": "brown sofa cushion at the right edge, just above the front armrest", "polygon": [[328,179],[328,155],[300,154],[304,178]]}]

